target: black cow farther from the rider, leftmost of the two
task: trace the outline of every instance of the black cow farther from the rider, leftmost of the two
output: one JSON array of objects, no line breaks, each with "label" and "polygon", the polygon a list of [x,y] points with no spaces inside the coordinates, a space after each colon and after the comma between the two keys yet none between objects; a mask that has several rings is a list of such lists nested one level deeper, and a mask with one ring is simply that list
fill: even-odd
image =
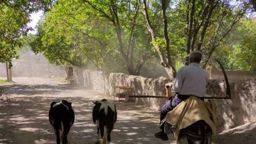
[{"label": "black cow farther from the rider, leftmost of the two", "polygon": [[74,120],[75,113],[72,109],[71,102],[62,100],[59,102],[53,101],[51,103],[51,109],[49,111],[49,121],[54,128],[57,144],[60,144],[60,138],[62,144],[68,143],[67,135],[68,132],[70,132],[71,126],[74,124]]}]

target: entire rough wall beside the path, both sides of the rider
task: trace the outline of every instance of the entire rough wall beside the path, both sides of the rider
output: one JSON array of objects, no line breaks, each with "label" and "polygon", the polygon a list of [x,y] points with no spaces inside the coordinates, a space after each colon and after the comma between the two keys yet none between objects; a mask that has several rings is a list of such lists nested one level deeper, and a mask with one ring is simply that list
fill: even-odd
[{"label": "entire rough wall beside the path, both sides of the rider", "polygon": [[[114,86],[131,86],[134,95],[164,96],[165,83],[170,80],[165,77],[147,79],[140,76],[125,75],[123,73],[105,73],[102,71],[80,71],[77,78],[84,86],[97,92],[114,96]],[[225,96],[225,82],[209,80],[207,95]],[[218,103],[218,130],[226,130],[256,120],[256,80],[246,80],[230,83],[232,99],[216,99]],[[150,109],[159,110],[166,99],[136,98],[135,102],[142,103]]]}]

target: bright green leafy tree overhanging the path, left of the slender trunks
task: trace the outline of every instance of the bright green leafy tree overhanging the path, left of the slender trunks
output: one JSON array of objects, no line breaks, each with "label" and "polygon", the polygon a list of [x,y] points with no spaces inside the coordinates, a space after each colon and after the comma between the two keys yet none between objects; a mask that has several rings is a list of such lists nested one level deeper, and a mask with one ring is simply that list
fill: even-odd
[{"label": "bright green leafy tree overhanging the path, left of the slender trunks", "polygon": [[112,29],[86,9],[77,1],[58,1],[38,26],[33,51],[43,52],[51,63],[83,67],[90,61],[102,70],[104,57],[111,51]]}]

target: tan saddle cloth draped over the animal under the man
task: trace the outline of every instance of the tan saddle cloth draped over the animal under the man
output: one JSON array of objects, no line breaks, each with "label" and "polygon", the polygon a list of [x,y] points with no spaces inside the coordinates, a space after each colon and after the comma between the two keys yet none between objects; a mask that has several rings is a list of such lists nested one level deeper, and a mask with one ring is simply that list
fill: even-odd
[{"label": "tan saddle cloth draped over the animal under the man", "polygon": [[182,101],[166,116],[167,123],[173,125],[175,139],[177,140],[181,129],[190,126],[198,120],[204,120],[209,126],[213,134],[216,134],[217,114],[206,105],[201,99],[190,96]]}]

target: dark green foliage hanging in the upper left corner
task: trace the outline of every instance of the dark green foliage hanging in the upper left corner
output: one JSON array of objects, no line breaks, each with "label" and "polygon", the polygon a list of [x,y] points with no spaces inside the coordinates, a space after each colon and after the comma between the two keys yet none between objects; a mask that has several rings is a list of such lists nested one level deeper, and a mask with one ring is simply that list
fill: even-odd
[{"label": "dark green foliage hanging in the upper left corner", "polygon": [[51,1],[1,1],[0,2],[0,62],[11,62],[18,58],[17,47],[21,46],[20,37],[31,29],[29,14],[39,9],[48,9]]}]

